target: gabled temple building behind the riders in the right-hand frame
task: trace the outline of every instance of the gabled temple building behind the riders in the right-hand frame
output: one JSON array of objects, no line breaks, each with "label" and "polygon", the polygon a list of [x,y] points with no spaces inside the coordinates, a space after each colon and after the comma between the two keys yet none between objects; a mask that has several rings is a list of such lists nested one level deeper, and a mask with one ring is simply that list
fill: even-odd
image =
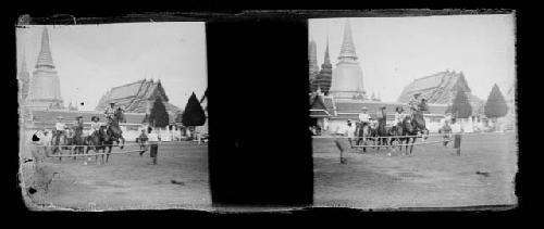
[{"label": "gabled temple building behind the riders in the right-hand frame", "polygon": [[459,90],[467,94],[473,113],[483,112],[484,102],[471,93],[462,72],[456,73],[455,71],[440,72],[415,79],[404,88],[398,102],[407,103],[415,93],[421,93],[420,98],[425,98],[428,103],[449,105]]}]

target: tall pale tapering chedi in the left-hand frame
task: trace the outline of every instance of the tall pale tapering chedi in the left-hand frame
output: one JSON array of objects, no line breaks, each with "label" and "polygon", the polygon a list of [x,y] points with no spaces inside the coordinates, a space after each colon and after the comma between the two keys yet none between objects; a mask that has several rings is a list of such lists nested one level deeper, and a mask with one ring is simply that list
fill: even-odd
[{"label": "tall pale tapering chedi in the left-hand frame", "polygon": [[33,73],[29,106],[33,109],[64,109],[60,79],[54,71],[47,27],[41,34],[41,49]]}]

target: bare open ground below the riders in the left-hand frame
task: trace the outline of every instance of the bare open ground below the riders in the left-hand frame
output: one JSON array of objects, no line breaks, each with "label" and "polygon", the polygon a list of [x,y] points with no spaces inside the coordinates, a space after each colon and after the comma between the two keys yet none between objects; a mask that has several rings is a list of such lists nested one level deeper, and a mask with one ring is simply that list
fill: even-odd
[{"label": "bare open ground below the riders in the left-hand frame", "polygon": [[[113,152],[120,152],[119,148]],[[149,164],[149,151],[144,156],[112,154],[107,165],[97,165],[91,158],[87,165],[85,157],[46,158],[36,164],[35,176],[50,183],[47,190],[30,194],[32,201],[49,209],[211,207],[207,145],[161,144],[157,165]]]}]

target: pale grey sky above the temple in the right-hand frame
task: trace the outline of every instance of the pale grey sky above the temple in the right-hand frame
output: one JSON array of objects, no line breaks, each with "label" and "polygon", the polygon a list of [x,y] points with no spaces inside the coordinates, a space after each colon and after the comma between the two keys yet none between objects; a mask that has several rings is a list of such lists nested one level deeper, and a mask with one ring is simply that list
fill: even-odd
[{"label": "pale grey sky above the temple in the right-hand frame", "polygon": [[[348,18],[309,21],[309,39],[317,43],[318,64],[326,38],[336,67]],[[494,84],[515,85],[515,16],[455,15],[419,17],[351,17],[351,33],[368,94],[397,101],[416,78],[446,69],[462,72],[472,93],[486,100]],[[505,94],[506,97],[506,94]]]}]

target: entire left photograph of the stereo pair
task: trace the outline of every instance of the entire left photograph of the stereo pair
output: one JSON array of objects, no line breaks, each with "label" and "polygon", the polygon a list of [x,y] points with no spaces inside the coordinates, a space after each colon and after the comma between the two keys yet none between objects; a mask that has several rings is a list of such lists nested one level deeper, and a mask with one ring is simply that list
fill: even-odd
[{"label": "entire left photograph of the stereo pair", "polygon": [[205,27],[15,28],[28,209],[211,207]]}]

